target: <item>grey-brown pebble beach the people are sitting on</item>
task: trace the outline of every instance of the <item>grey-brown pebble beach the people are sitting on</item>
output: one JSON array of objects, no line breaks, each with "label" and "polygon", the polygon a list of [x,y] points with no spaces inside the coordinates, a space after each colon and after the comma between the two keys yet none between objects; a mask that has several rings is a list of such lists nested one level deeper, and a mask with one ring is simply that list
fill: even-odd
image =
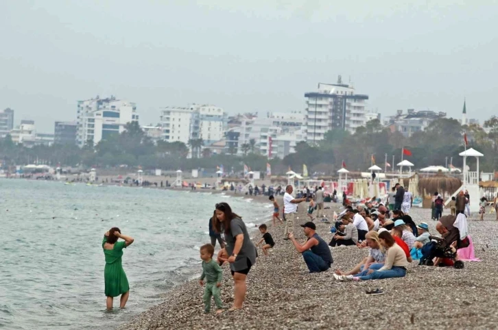
[{"label": "grey-brown pebble beach the people are sitting on", "polygon": [[[257,199],[260,198],[268,199]],[[340,204],[325,206],[330,207],[324,211],[333,223],[333,212],[340,211]],[[294,223],[294,235],[301,242],[305,236],[299,225],[308,219],[305,209],[307,205],[300,204]],[[430,219],[430,212],[412,208],[410,215],[415,223],[428,223],[434,235],[436,221]],[[445,210],[444,214],[448,212]],[[119,329],[495,329],[498,221],[494,213],[487,213],[484,221],[477,220],[478,216],[476,213],[469,218],[469,231],[475,257],[481,262],[465,262],[463,269],[455,269],[418,266],[418,261],[414,261],[408,266],[406,277],[364,282],[335,281],[333,272],[353,268],[368,255],[368,249],[332,248],[331,268],[309,274],[292,242],[283,240],[283,225],[269,225],[276,245],[268,257],[259,249],[257,263],[248,275],[244,309],[219,316],[214,309],[211,314],[204,314],[204,288],[193,280],[173,288],[165,294],[163,303]],[[315,222],[317,233],[329,242],[332,224]],[[261,238],[259,231],[252,236],[253,242]],[[209,242],[208,237],[205,242]],[[228,265],[222,268],[222,301],[230,307],[233,279]],[[383,288],[385,294],[366,296],[365,291],[373,288]]]}]

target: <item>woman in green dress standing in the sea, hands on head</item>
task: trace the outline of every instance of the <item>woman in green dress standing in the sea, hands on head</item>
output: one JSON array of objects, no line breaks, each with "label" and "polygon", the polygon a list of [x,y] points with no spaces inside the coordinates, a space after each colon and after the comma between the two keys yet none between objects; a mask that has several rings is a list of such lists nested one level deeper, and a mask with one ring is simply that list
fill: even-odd
[{"label": "woman in green dress standing in the sea, hands on head", "polygon": [[[117,242],[118,238],[124,240]],[[104,268],[104,281],[106,283],[107,309],[112,309],[112,301],[115,296],[121,295],[120,308],[124,308],[128,296],[130,296],[130,285],[121,264],[123,249],[133,243],[133,238],[121,235],[121,230],[112,227],[104,234],[102,249],[106,256],[106,268]]]}]

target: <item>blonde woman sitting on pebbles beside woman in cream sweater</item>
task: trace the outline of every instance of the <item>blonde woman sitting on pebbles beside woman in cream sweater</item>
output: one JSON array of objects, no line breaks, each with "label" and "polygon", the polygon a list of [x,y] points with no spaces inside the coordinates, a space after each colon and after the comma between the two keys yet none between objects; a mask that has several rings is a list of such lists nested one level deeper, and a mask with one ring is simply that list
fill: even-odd
[{"label": "blonde woman sitting on pebbles beside woman in cream sweater", "polygon": [[386,249],[381,245],[379,241],[379,234],[377,231],[368,231],[366,234],[365,245],[370,248],[368,257],[363,259],[359,264],[355,266],[352,270],[348,272],[342,272],[340,269],[335,270],[337,275],[356,275],[363,276],[367,275],[368,270],[379,270],[384,266],[384,260],[386,259]]}]

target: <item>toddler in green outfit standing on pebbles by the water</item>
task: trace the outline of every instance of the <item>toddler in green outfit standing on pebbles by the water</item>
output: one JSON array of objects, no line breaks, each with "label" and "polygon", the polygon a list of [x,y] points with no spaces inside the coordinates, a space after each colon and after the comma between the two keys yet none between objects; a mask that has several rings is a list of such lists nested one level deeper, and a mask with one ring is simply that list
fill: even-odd
[{"label": "toddler in green outfit standing on pebbles by the water", "polygon": [[216,314],[223,312],[223,303],[220,298],[220,286],[222,286],[223,271],[220,265],[213,260],[215,247],[211,244],[204,244],[200,247],[200,258],[202,259],[202,275],[199,283],[204,285],[204,278],[207,279],[206,289],[204,290],[204,313],[211,311],[211,296],[215,299],[217,307]]}]

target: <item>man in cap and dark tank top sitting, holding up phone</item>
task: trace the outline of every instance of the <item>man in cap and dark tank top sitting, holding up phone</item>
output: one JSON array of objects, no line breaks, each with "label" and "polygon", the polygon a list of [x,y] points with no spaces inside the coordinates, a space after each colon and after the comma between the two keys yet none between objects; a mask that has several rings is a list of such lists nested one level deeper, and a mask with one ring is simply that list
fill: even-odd
[{"label": "man in cap and dark tank top sitting, holding up phone", "polygon": [[289,233],[289,239],[294,244],[296,251],[303,255],[309,272],[324,272],[333,263],[332,253],[327,243],[316,233],[316,225],[311,221],[301,225],[308,238],[306,243],[301,245],[294,238],[293,233]]}]

